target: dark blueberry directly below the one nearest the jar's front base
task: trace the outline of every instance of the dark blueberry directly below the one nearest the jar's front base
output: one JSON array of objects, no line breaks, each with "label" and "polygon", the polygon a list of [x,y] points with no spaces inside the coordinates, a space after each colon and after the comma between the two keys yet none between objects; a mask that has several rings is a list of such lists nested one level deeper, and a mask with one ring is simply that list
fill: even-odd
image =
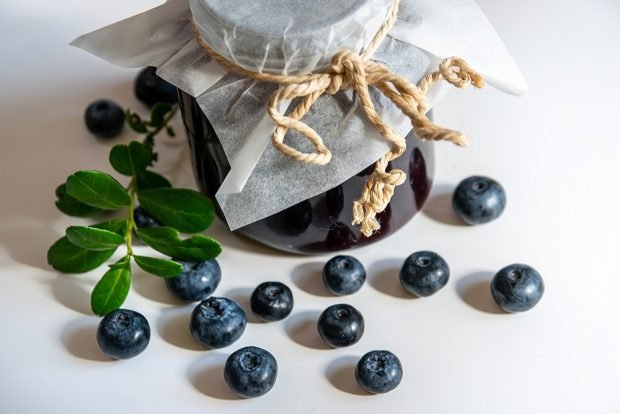
[{"label": "dark blueberry directly below the one nearest the jar's front base", "polygon": [[351,305],[338,304],[325,309],[317,324],[319,335],[331,347],[353,345],[364,334],[364,317]]}]

